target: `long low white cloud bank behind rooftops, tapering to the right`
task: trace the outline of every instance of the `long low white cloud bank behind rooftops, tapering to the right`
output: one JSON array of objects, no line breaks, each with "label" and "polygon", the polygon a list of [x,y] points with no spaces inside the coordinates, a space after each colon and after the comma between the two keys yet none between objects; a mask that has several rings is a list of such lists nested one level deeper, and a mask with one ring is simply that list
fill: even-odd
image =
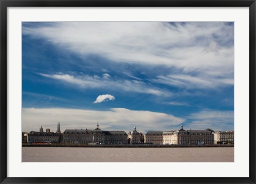
[{"label": "long low white cloud bank behind rooftops, tapering to the right", "polygon": [[170,125],[179,125],[185,119],[170,114],[153,111],[111,108],[107,111],[65,109],[65,108],[22,108],[22,131],[38,131],[39,126],[57,130],[57,122],[61,123],[61,131],[65,129],[94,129],[97,122],[102,130],[132,131],[137,130],[169,130]]}]

